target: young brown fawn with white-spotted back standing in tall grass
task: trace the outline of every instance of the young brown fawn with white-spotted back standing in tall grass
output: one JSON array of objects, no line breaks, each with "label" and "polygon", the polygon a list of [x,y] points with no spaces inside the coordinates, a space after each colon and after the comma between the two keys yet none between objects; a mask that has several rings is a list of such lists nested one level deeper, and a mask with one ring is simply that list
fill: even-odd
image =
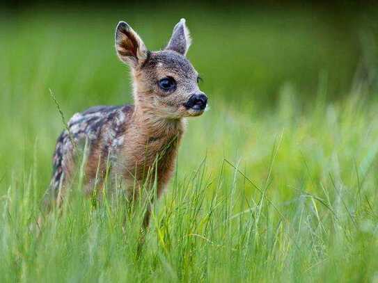
[{"label": "young brown fawn with white-spotted back standing in tall grass", "polygon": [[[184,118],[201,115],[207,106],[198,72],[185,57],[191,44],[185,19],[162,51],[149,51],[126,22],[118,23],[115,41],[118,57],[131,68],[134,105],[95,106],[69,120],[56,143],[47,198],[57,206],[77,171],[76,145],[83,143],[86,193],[101,190],[110,170],[122,177],[128,195],[156,182],[159,197],[175,168]],[[148,220],[149,209],[144,226]]]}]

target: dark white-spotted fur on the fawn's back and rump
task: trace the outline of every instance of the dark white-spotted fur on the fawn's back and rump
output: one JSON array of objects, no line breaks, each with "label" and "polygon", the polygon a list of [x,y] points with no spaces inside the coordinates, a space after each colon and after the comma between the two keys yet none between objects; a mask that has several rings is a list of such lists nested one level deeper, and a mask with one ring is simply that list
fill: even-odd
[{"label": "dark white-spotted fur on the fawn's back and rump", "polygon": [[68,130],[61,133],[53,156],[53,176],[50,188],[55,195],[70,174],[74,156],[87,145],[89,151],[100,147],[102,158],[110,160],[124,142],[125,124],[133,106],[95,106],[76,113],[68,122]]}]

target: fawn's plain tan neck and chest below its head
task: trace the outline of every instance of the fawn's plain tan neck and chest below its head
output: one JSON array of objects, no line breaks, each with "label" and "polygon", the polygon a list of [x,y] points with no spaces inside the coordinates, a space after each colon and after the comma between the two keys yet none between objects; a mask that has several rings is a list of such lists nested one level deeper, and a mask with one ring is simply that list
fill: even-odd
[{"label": "fawn's plain tan neck and chest below its head", "polygon": [[161,119],[134,108],[125,134],[123,167],[120,168],[125,178],[143,180],[158,162],[159,182],[165,184],[173,172],[183,131],[181,119]]}]

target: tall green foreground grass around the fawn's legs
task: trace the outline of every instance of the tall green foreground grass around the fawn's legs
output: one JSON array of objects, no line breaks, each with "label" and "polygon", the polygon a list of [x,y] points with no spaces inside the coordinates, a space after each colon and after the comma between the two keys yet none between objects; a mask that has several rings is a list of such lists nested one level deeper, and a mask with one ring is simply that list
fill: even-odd
[{"label": "tall green foreground grass around the fawn's legs", "polygon": [[[38,233],[35,152],[31,168],[13,176],[1,198],[2,279],[374,280],[377,104],[350,97],[283,118],[290,107],[253,124],[228,113],[246,127],[240,148],[246,154],[237,159],[219,162],[209,152],[184,172],[180,159],[168,192],[153,206],[139,254],[145,204],[130,208],[119,191],[93,206],[72,188],[63,211],[50,213]],[[264,140],[253,140],[258,131]]]}]

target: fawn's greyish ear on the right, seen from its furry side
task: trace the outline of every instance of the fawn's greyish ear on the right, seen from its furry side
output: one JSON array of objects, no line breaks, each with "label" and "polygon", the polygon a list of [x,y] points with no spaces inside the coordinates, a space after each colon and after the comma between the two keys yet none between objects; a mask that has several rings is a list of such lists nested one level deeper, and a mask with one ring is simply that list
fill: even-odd
[{"label": "fawn's greyish ear on the right, seen from its furry side", "polygon": [[185,24],[185,19],[180,19],[180,22],[173,28],[171,40],[169,40],[166,49],[176,51],[182,55],[186,55],[191,44],[189,29]]}]

